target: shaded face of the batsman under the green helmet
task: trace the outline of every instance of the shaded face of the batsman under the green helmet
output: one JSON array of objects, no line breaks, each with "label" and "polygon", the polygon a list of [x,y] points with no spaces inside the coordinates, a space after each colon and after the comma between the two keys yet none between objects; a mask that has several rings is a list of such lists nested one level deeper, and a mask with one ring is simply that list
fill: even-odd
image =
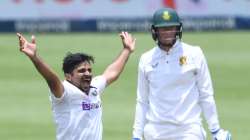
[{"label": "shaded face of the batsman under the green helmet", "polygon": [[157,29],[158,39],[163,46],[172,47],[176,41],[177,27],[161,27]]}]

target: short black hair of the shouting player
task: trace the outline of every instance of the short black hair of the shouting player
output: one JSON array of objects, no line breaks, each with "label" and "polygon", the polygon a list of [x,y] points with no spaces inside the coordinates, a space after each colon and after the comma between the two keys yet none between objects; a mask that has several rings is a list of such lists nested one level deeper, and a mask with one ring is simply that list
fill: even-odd
[{"label": "short black hair of the shouting player", "polygon": [[68,52],[63,59],[63,72],[71,73],[80,63],[87,61],[94,63],[94,57],[85,53]]}]

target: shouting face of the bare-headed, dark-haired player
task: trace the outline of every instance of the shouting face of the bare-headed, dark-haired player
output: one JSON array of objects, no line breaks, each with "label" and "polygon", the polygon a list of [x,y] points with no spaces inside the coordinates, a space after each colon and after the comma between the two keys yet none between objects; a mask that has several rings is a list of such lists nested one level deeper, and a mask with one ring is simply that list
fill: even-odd
[{"label": "shouting face of the bare-headed, dark-haired player", "polygon": [[67,80],[69,80],[73,85],[88,94],[92,80],[91,64],[88,62],[80,63],[72,71]]}]

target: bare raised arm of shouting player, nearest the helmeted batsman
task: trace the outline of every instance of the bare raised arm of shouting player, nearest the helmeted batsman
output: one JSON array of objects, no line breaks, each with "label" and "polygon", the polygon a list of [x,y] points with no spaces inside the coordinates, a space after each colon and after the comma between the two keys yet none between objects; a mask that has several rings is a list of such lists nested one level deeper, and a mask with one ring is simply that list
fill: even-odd
[{"label": "bare raised arm of shouting player, nearest the helmeted batsman", "polygon": [[118,79],[119,75],[124,69],[124,66],[135,49],[135,38],[128,32],[121,32],[120,37],[123,43],[123,49],[120,55],[110,64],[103,73],[103,76],[107,79],[107,85]]}]

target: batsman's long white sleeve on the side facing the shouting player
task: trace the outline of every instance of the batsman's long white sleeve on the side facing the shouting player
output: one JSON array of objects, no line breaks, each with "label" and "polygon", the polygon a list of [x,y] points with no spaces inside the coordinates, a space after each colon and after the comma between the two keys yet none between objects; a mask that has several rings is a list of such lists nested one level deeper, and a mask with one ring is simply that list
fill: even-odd
[{"label": "batsman's long white sleeve on the side facing the shouting player", "polygon": [[138,80],[137,80],[137,99],[136,99],[136,111],[135,121],[133,126],[133,137],[143,137],[143,130],[146,123],[146,113],[148,111],[148,81],[146,79],[145,71],[143,68],[142,58],[138,68]]}]

